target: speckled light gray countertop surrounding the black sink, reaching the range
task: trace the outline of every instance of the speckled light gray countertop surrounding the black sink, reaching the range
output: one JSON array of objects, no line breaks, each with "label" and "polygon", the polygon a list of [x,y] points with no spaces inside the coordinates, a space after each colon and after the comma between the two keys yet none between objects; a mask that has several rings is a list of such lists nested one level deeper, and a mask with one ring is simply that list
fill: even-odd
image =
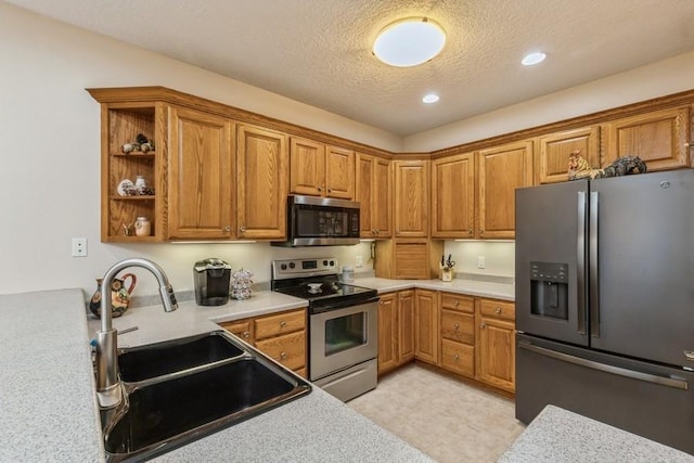
[{"label": "speckled light gray countertop surrounding the black sink, reaching the range", "polygon": [[[158,306],[133,308],[114,319],[114,326],[139,326],[121,335],[120,345],[149,344],[218,329],[214,321],[305,305],[258,293],[215,308],[187,301],[170,313]],[[89,347],[98,326],[97,320],[87,322],[81,290],[0,296],[0,461],[104,461]],[[305,397],[155,460],[432,461],[316,386]]]}]

